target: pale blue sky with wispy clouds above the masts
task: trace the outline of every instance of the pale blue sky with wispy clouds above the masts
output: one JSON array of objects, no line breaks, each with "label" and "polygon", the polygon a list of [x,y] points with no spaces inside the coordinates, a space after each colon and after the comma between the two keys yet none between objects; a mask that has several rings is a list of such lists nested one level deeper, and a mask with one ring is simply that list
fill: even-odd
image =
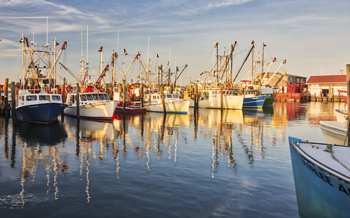
[{"label": "pale blue sky with wispy clouds above the masts", "polygon": [[[213,67],[215,43],[218,54],[223,55],[235,41],[234,73],[254,41],[254,59],[265,43],[265,63],[274,57],[278,60],[270,72],[286,59],[279,71],[307,78],[337,75],[350,64],[349,8],[349,0],[0,0],[0,83],[4,78],[15,82],[20,79],[22,34],[30,41],[34,35],[35,43],[45,45],[47,33],[48,43],[55,38],[61,45],[67,42],[59,60],[73,73],[80,70],[83,34],[83,56],[85,61],[88,58],[90,73],[96,76],[98,50],[103,46],[104,65],[114,50],[119,54],[117,65],[121,71],[123,49],[128,53],[127,67],[139,51],[141,61],[146,64],[147,57],[151,58],[153,68],[170,61],[175,71],[175,66],[182,69],[187,64],[179,79],[187,85],[190,80],[203,80],[200,73]],[[156,63],[155,53],[159,56]],[[248,73],[249,60],[240,78]],[[69,73],[57,69],[59,72],[73,82]],[[138,73],[139,64],[134,64],[127,80],[137,80]]]}]

